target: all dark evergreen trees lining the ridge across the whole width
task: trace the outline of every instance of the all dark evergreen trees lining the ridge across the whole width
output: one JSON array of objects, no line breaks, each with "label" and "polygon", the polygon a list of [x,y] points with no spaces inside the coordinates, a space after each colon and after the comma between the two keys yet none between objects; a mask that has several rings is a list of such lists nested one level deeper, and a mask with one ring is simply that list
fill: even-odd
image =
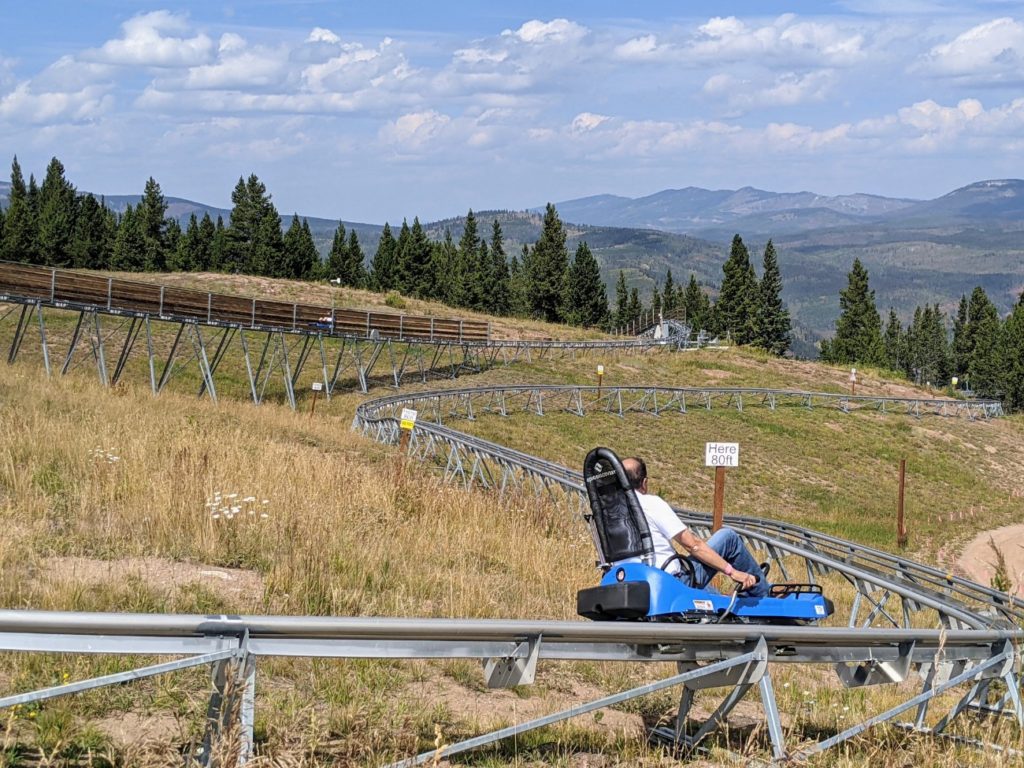
[{"label": "all dark evergreen trees lining the ridge across the whole width", "polygon": [[[412,223],[403,219],[394,228],[385,223],[372,255],[365,252],[356,231],[346,231],[339,222],[323,258],[308,220],[298,214],[283,218],[255,174],[239,178],[231,204],[226,221],[219,215],[214,219],[209,213],[193,213],[182,225],[168,215],[167,200],[151,177],[137,205],[116,213],[102,198],[79,194],[56,158],[38,184],[32,174],[26,181],[15,157],[8,204],[0,209],[0,258],[87,269],[331,281],[386,293],[392,306],[401,305],[401,296],[411,296],[499,316],[608,331],[635,328],[643,314],[672,314],[694,333],[703,330],[775,355],[787,354],[794,341],[771,240],[760,276],[736,234],[722,264],[720,285],[699,281],[695,270],[688,281],[677,283],[670,268],[645,302],[638,288],[629,286],[625,270],[617,270],[609,302],[590,246],[573,231],[578,242],[570,253],[572,227],[551,204],[543,216],[524,214],[535,225],[540,218],[540,234],[512,252],[499,216],[486,221],[469,211],[465,218],[435,222],[429,230],[415,216]],[[849,285],[840,293],[835,337],[821,342],[824,360],[886,368],[933,385],[947,385],[955,378],[963,388],[1024,407],[1020,301],[1001,318],[978,287],[961,298],[951,323],[935,303],[919,306],[906,327],[891,308],[883,328],[867,281],[867,270],[854,260]]]}]

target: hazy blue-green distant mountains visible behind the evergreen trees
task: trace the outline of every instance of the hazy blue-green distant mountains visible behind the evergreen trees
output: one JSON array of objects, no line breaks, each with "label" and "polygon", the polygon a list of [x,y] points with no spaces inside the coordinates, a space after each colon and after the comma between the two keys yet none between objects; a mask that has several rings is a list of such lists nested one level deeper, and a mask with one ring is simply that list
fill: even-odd
[{"label": "hazy blue-green distant mountains visible behind the evergreen trees", "polygon": [[[0,206],[10,185],[0,182]],[[137,195],[106,196],[123,211]],[[182,224],[189,215],[213,218],[229,211],[181,198],[167,198],[168,212]],[[1024,180],[978,181],[934,200],[873,195],[828,197],[814,193],[741,189],[666,189],[644,198],[600,195],[556,203],[568,246],[586,241],[601,264],[609,298],[620,269],[644,297],[664,285],[671,269],[676,283],[690,273],[714,293],[733,234],[743,238],[760,267],[772,239],[783,278],[783,298],[800,339],[798,352],[813,353],[813,341],[834,332],[839,292],[854,258],[867,267],[880,311],[895,307],[904,322],[913,308],[938,303],[955,311],[962,294],[982,286],[1001,311],[1024,290]],[[543,207],[530,211],[477,211],[481,234],[498,219],[506,251],[518,254],[537,241]],[[414,212],[415,213],[415,212]],[[284,217],[287,226],[290,214]],[[412,218],[412,217],[410,217]],[[326,253],[336,219],[307,217]],[[368,258],[376,251],[382,224],[343,221],[354,229]],[[391,222],[397,230],[401,222]],[[445,229],[458,240],[465,217],[425,223],[431,238]],[[397,233],[397,232],[396,232]]]}]

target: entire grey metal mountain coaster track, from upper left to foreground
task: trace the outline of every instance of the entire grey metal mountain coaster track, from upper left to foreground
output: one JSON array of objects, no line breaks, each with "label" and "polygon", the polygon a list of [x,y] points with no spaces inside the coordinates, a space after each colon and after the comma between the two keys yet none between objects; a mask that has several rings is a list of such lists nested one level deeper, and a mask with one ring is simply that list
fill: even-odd
[{"label": "entire grey metal mountain coaster track, from upper left to foreground", "polygon": [[[27,276],[28,275],[28,276]],[[71,275],[71,276],[69,276]],[[75,276],[75,275],[84,275]],[[85,280],[91,278],[91,281]],[[412,337],[407,328],[424,333],[423,318],[384,319],[364,313],[357,330],[316,326],[326,315],[323,307],[273,306],[266,314],[258,299],[228,297],[249,307],[248,316],[214,312],[222,303],[216,294],[197,294],[177,304],[165,304],[169,289],[148,284],[147,299],[132,294],[115,279],[70,270],[29,267],[0,262],[0,303],[11,306],[16,318],[8,361],[13,362],[29,331],[33,313],[39,326],[40,348],[47,373],[50,351],[43,309],[78,314],[75,331],[60,369],[67,373],[80,345],[88,344],[100,380],[116,383],[125,370],[135,340],[144,330],[151,384],[162,390],[174,373],[175,353],[182,338],[190,341],[203,385],[200,394],[215,398],[217,367],[232,339],[239,338],[255,402],[263,398],[270,373],[281,371],[288,400],[295,407],[295,387],[307,357],[319,350],[317,372],[328,394],[351,370],[356,385],[367,390],[375,366],[391,362],[390,380],[400,386],[407,379],[426,381],[428,376],[454,378],[478,371],[499,360],[531,359],[532,355],[672,350],[672,340],[608,342],[497,341],[470,339],[466,327],[438,326],[433,319],[425,338]],[[176,294],[170,294],[172,297]],[[133,306],[125,304],[128,296]],[[115,297],[120,297],[116,300]],[[154,298],[156,297],[156,298]],[[154,301],[157,306],[153,305]],[[145,304],[145,302],[150,302]],[[177,301],[177,299],[175,299]],[[206,314],[203,314],[205,301]],[[280,302],[279,302],[280,304]],[[239,305],[241,306],[241,305]],[[183,308],[182,308],[183,307]],[[287,307],[287,308],[283,308]],[[225,310],[226,311],[226,310]],[[233,311],[233,310],[231,310]],[[290,315],[289,315],[290,312]],[[316,315],[316,319],[313,316]],[[0,314],[0,319],[3,318]],[[106,367],[106,346],[115,334],[104,332],[100,317],[121,324],[120,348],[113,376]],[[289,316],[291,322],[289,322]],[[337,315],[333,315],[337,317]],[[390,317],[402,315],[390,315]],[[408,317],[408,315],[406,315]],[[428,318],[429,319],[429,318]],[[110,319],[108,322],[111,322]],[[176,336],[166,361],[156,349],[151,324],[171,324]],[[411,324],[407,327],[407,323]],[[417,326],[419,323],[419,326]],[[397,324],[397,325],[396,325]],[[127,332],[124,333],[124,328]],[[202,328],[206,328],[204,337]],[[479,331],[477,331],[479,333]],[[263,342],[259,364],[253,367],[248,339]],[[452,336],[455,334],[455,337]],[[334,346],[331,346],[334,345]],[[337,355],[333,376],[329,352]],[[447,359],[442,365],[439,360]],[[158,368],[162,369],[160,376]],[[410,451],[424,460],[443,464],[445,479],[492,487],[499,493],[536,493],[552,497],[572,510],[586,513],[579,472],[527,454],[502,446],[444,424],[451,419],[473,419],[527,413],[571,413],[584,418],[595,412],[628,418],[634,413],[683,415],[688,409],[828,408],[846,413],[871,410],[914,417],[945,416],[969,419],[1001,416],[997,402],[947,398],[896,398],[848,396],[837,393],[778,389],[721,387],[594,387],[515,385],[475,387],[433,392],[399,393],[362,403],[353,428],[385,442],[397,441],[402,408],[422,414],[412,433]],[[432,421],[429,421],[432,419]],[[855,416],[851,416],[855,418]],[[707,514],[677,510],[698,531],[707,532]],[[973,738],[949,733],[948,726],[964,713],[1002,714],[1024,724],[1020,698],[1019,659],[1015,644],[1024,639],[1024,603],[951,573],[915,563],[891,553],[873,550],[808,528],[754,517],[730,517],[749,547],[770,560],[783,579],[799,573],[807,581],[846,582],[853,588],[847,626],[778,627],[759,625],[652,625],[633,623],[522,622],[400,618],[317,618],[303,616],[173,616],[0,611],[0,648],[105,653],[184,655],[186,658],[141,670],[118,673],[92,681],[0,698],[0,707],[42,700],[53,695],[126,682],[150,675],[213,665],[216,691],[211,698],[208,738],[224,724],[217,712],[237,706],[242,718],[243,760],[251,752],[255,664],[260,655],[318,655],[336,657],[464,657],[485,662],[485,676],[493,687],[531,682],[538,659],[662,660],[677,664],[677,674],[631,691],[577,706],[563,713],[503,729],[461,744],[447,746],[445,755],[495,741],[530,727],[538,727],[590,712],[600,707],[672,686],[682,686],[675,728],[655,735],[693,748],[708,736],[754,686],[760,693],[765,722],[775,758],[800,757],[828,749],[871,725],[893,720],[915,710],[907,727],[959,740]],[[826,585],[827,586],[827,585]],[[888,711],[864,717],[858,724],[820,741],[790,749],[785,743],[772,687],[772,664],[829,664],[848,687],[898,683],[916,673],[920,693],[907,694]],[[234,681],[237,685],[229,684]],[[966,685],[968,690],[937,721],[927,725],[929,709],[941,694]],[[695,691],[728,689],[714,714],[699,727],[690,727],[689,713]],[[1004,748],[998,748],[1004,749]],[[208,754],[208,753],[207,753]],[[399,764],[422,763],[425,753]],[[202,762],[202,760],[201,760]],[[396,764],[397,765],[397,764]]]}]

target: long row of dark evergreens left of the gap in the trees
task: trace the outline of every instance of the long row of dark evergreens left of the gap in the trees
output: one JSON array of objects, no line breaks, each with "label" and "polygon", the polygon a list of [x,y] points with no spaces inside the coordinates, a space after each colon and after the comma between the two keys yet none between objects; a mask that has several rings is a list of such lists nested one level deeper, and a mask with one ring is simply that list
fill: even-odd
[{"label": "long row of dark evergreens left of the gap in the trees", "polygon": [[[121,271],[217,270],[270,278],[331,280],[376,291],[441,301],[497,315],[515,314],[550,323],[612,328],[645,310],[636,288],[627,292],[620,272],[617,306],[609,311],[597,260],[586,242],[570,257],[555,207],[548,204],[538,241],[519,254],[506,254],[501,224],[489,238],[480,233],[473,211],[459,242],[451,230],[430,240],[419,218],[402,221],[397,237],[385,223],[367,267],[355,231],[338,225],[326,259],[321,259],[309,224],[297,214],[282,231],[282,218],[266,186],[252,174],[231,193],[227,223],[218,216],[193,214],[182,229],[167,215],[168,204],[154,178],[141,200],[120,215],[102,199],[79,195],[63,165],[53,158],[41,186],[28,183],[15,157],[6,211],[0,211],[0,258],[48,266]],[[655,287],[650,308],[685,310],[694,329],[728,333],[739,344],[757,344],[782,354],[790,345],[790,317],[779,297],[781,278],[769,242],[764,273],[754,273],[739,236],[733,239],[718,301],[714,304],[691,274],[686,287],[669,272]]]}]

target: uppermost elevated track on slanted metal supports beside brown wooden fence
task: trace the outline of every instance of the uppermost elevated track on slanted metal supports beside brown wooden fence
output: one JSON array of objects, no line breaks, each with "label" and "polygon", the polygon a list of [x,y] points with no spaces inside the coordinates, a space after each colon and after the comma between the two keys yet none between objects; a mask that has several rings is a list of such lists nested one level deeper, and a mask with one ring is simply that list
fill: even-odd
[{"label": "uppermost elevated track on slanted metal supports beside brown wooden fence", "polygon": [[[6,285],[4,269],[9,270],[11,266],[41,269],[46,275],[52,272],[54,282],[51,285],[51,279],[46,276],[46,285],[35,292],[28,291],[24,286],[19,289],[18,280],[7,279],[7,283],[12,285]],[[53,286],[58,272],[63,278],[70,274],[78,281],[88,279],[101,285],[98,288],[93,286],[95,291],[92,292],[84,289],[72,292],[68,289],[61,294],[65,298],[56,299]],[[139,286],[152,289],[156,292],[154,296],[160,298],[112,304],[110,292],[115,282],[136,289]],[[102,293],[100,289],[106,293],[98,298],[93,296],[96,291]],[[201,298],[218,296],[184,289],[167,290],[189,296],[195,294]],[[517,361],[534,362],[556,356],[575,359],[591,352],[639,354],[702,346],[685,339],[499,340],[489,338],[489,326],[485,336],[464,334],[462,328],[468,321],[443,321],[456,324],[459,330],[440,333],[435,328],[442,323],[440,318],[418,318],[424,323],[429,321],[429,330],[410,334],[402,330],[400,319],[393,319],[406,315],[374,312],[357,313],[371,319],[364,324],[364,330],[356,333],[347,326],[336,325],[333,313],[328,322],[316,322],[316,311],[325,310],[324,307],[305,307],[303,311],[308,317],[300,324],[296,319],[295,307],[304,305],[218,297],[225,301],[241,301],[247,306],[251,303],[254,307],[252,319],[240,321],[232,319],[233,315],[227,310],[214,313],[210,309],[212,299],[207,301],[203,298],[200,301],[196,296],[190,296],[190,303],[183,305],[194,309],[199,306],[199,309],[177,311],[173,306],[165,306],[165,289],[160,286],[0,262],[0,323],[10,316],[14,326],[7,348],[7,361],[13,364],[17,359],[31,332],[33,336],[38,334],[41,361],[47,376],[51,376],[54,369],[65,375],[91,359],[99,381],[104,385],[115,385],[129,370],[129,361],[144,354],[154,394],[159,394],[175,376],[195,365],[202,382],[199,394],[216,400],[218,372],[225,359],[229,359],[244,371],[248,393],[255,403],[263,401],[273,380],[284,384],[285,397],[295,409],[304,371],[310,372],[306,374],[304,383],[321,382],[326,396],[330,398],[339,387],[367,392],[374,378],[399,387],[411,382],[425,383],[429,379],[455,379]],[[7,305],[6,310],[4,304]],[[261,316],[257,322],[257,305],[273,305],[280,311]],[[46,317],[53,313],[77,315],[70,340],[57,339],[57,334],[52,329],[48,330]],[[385,322],[382,318],[388,319]],[[38,328],[34,330],[34,326]],[[165,332],[168,338],[164,338],[161,332]],[[228,378],[233,381],[239,378],[239,373],[234,371],[228,374]]]}]

